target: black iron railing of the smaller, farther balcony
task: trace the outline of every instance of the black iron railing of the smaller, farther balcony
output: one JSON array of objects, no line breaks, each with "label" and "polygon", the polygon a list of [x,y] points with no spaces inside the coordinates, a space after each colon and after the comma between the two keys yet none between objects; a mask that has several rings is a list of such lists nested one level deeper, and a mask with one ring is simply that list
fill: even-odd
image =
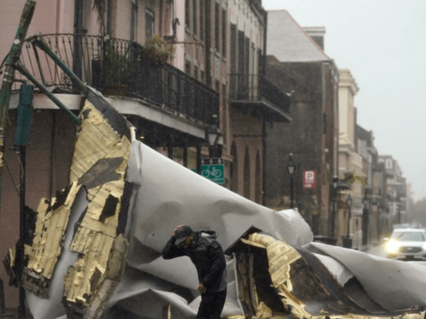
[{"label": "black iron railing of the smaller, farther balcony", "polygon": [[231,74],[230,100],[265,101],[282,112],[289,113],[290,110],[290,97],[259,74]]}]

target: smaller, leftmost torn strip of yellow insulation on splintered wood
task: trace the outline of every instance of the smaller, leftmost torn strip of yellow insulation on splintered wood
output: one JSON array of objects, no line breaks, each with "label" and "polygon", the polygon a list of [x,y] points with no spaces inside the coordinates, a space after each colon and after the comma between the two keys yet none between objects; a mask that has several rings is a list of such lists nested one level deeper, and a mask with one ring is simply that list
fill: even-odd
[{"label": "smaller, leftmost torn strip of yellow insulation on splintered wood", "polygon": [[25,247],[25,253],[29,259],[27,270],[34,271],[48,279],[52,277],[62,252],[62,241],[71,207],[80,187],[77,183],[73,183],[65,203],[55,210],[49,209],[50,206],[46,199],[40,201],[33,244]]}]

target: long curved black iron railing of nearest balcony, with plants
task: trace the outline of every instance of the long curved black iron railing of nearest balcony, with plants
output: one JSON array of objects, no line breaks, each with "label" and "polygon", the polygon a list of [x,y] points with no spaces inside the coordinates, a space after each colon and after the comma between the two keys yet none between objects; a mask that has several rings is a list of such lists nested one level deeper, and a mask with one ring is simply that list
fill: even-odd
[{"label": "long curved black iron railing of nearest balcony, with plants", "polygon": [[[214,123],[219,115],[216,91],[169,64],[144,59],[143,46],[136,42],[75,34],[42,37],[83,82],[104,95],[136,98],[202,123]],[[53,93],[78,94],[62,69],[29,40],[21,57],[27,69]]]}]

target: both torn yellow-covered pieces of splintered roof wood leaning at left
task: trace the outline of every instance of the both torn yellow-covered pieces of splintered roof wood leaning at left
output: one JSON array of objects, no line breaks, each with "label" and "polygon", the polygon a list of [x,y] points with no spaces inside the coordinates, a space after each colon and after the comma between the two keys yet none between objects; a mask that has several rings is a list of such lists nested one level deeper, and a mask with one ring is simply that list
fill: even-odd
[{"label": "both torn yellow-covered pieces of splintered roof wood leaning at left", "polygon": [[[70,186],[56,199],[42,199],[35,225],[27,225],[34,231],[34,238],[25,245],[23,286],[39,297],[49,298],[49,283],[62,253],[72,206],[81,187],[86,189],[89,204],[74,227],[70,247],[65,247],[78,253],[64,278],[63,302],[69,318],[100,318],[127,262],[128,241],[122,233],[128,213],[127,193],[131,192],[125,182],[130,132],[125,131],[118,112],[108,104],[100,105],[96,107],[86,100],[82,109]],[[108,120],[100,109],[108,111]],[[15,262],[13,249],[4,261],[11,280]]]}]

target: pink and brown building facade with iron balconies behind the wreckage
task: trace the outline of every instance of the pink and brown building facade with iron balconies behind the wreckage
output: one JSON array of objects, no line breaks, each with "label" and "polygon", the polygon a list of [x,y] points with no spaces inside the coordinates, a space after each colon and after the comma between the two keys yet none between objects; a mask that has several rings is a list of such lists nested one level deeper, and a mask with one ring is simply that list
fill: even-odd
[{"label": "pink and brown building facade with iron balconies behind the wreckage", "polygon": [[[262,77],[266,12],[257,0],[105,0],[37,2],[28,36],[38,32],[60,59],[136,127],[137,136],[188,169],[203,157],[225,159],[224,187],[262,203],[265,125],[288,121],[289,97]],[[0,56],[5,57],[23,4],[2,6]],[[52,19],[46,20],[46,17]],[[74,114],[80,92],[64,72],[27,42],[22,61]],[[153,51],[147,50],[152,48]],[[172,49],[172,54],[165,52]],[[36,52],[38,54],[36,54]],[[166,55],[164,55],[166,54]],[[18,77],[22,78],[22,77]],[[1,75],[0,75],[1,79]],[[0,218],[0,254],[19,236],[20,165],[13,147],[20,83],[11,97]],[[237,94],[237,93],[238,94]],[[76,125],[36,90],[27,147],[26,205],[55,197],[68,185]],[[221,133],[208,147],[206,132]],[[0,278],[5,278],[0,268]],[[17,289],[6,287],[7,306]]]}]

